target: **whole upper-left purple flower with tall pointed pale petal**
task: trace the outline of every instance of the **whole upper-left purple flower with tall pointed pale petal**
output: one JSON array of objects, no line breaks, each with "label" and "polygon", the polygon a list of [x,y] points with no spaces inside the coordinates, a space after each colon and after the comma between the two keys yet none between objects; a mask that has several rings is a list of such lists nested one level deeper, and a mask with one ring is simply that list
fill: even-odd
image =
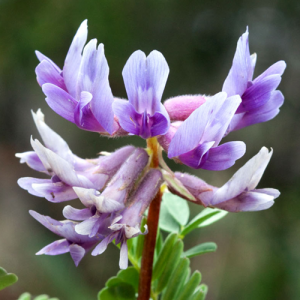
[{"label": "whole upper-left purple flower with tall pointed pale petal", "polygon": [[87,21],[80,25],[68,51],[63,70],[36,51],[40,64],[37,81],[48,105],[79,128],[116,134],[119,125],[112,110],[113,95],[108,82],[109,68],[103,44],[87,40]]}]

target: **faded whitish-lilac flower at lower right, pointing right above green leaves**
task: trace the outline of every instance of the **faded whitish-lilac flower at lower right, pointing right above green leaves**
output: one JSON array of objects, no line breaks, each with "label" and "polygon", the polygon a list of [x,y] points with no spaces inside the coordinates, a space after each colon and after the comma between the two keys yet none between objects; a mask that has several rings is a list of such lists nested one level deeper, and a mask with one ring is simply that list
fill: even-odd
[{"label": "faded whitish-lilac flower at lower right, pointing right above green leaves", "polygon": [[263,210],[271,207],[280,195],[276,189],[256,189],[272,153],[263,147],[220,188],[189,174],[176,172],[175,176],[204,206],[230,212]]}]

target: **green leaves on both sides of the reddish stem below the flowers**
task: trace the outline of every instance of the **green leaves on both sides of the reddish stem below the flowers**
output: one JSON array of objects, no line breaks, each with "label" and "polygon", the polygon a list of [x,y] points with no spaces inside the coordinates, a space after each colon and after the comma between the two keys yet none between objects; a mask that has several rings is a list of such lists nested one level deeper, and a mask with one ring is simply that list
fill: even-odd
[{"label": "green leaves on both sides of the reddish stem below the flowers", "polygon": [[[164,193],[154,253],[152,299],[205,299],[207,286],[199,285],[201,282],[199,271],[195,271],[191,275],[189,259],[214,252],[217,245],[206,242],[184,251],[183,238],[195,229],[217,222],[226,214],[227,212],[220,209],[205,208],[188,222],[190,211],[187,202],[171,193]],[[145,224],[146,218],[142,221],[141,230],[144,230]],[[170,232],[170,234],[164,239],[161,230]],[[128,240],[128,257],[133,266],[110,278],[106,282],[105,288],[99,292],[98,300],[136,299],[144,238],[143,235],[140,235]]]}]

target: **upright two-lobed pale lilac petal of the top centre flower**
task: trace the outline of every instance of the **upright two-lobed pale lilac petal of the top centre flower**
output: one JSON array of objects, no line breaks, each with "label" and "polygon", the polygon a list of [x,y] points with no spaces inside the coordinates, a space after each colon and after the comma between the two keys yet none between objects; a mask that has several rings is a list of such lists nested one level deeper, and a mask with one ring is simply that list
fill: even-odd
[{"label": "upright two-lobed pale lilac petal of the top centre flower", "polygon": [[146,58],[139,50],[129,57],[122,75],[129,102],[138,113],[147,111],[153,116],[160,111],[168,74],[168,64],[158,51],[152,51]]}]

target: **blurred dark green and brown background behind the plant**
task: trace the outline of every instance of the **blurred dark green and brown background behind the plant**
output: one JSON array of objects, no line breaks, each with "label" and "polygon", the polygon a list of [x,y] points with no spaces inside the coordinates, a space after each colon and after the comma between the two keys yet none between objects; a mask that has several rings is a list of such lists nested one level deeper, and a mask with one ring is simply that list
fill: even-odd
[{"label": "blurred dark green and brown background behind the plant", "polygon": [[[117,1],[0,0],[0,266],[19,282],[0,292],[15,300],[22,292],[47,293],[61,300],[96,299],[109,276],[118,271],[119,251],[111,245],[97,257],[87,255],[76,268],[69,255],[35,256],[56,236],[28,214],[29,209],[62,219],[65,204],[27,194],[17,179],[39,174],[14,157],[30,150],[30,135],[39,138],[30,110],[41,108],[47,123],[81,157],[95,157],[132,143],[135,138],[106,139],[81,131],[56,115],[44,101],[34,68],[40,50],[59,66],[72,38],[88,19],[89,39],[104,43],[115,96],[126,97],[122,68],[130,54],[161,51],[170,66],[164,99],[182,94],[215,94],[231,66],[236,42],[250,30],[251,53],[258,54],[255,76],[278,60],[287,62],[280,90],[281,113],[272,121],[231,133],[242,140],[246,155],[227,171],[194,171],[222,185],[262,146],[274,155],[259,187],[281,191],[274,207],[256,213],[229,214],[186,238],[186,247],[214,241],[216,253],[192,259],[209,285],[208,300],[300,299],[300,2],[254,1]],[[184,167],[170,165],[175,170]],[[77,203],[74,200],[73,203]],[[76,204],[74,204],[76,205]],[[193,214],[201,207],[191,205]]]}]

